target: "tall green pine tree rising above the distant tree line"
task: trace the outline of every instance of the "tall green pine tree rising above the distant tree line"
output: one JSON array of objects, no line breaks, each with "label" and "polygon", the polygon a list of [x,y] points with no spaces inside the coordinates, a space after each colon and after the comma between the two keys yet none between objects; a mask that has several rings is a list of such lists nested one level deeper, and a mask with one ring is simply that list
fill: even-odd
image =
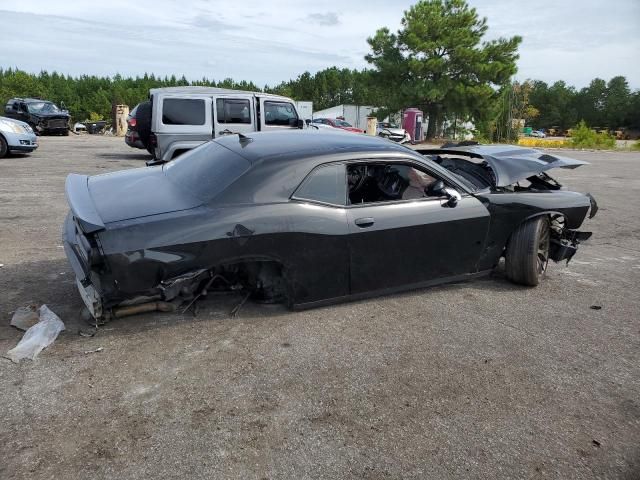
[{"label": "tall green pine tree rising above the distant tree line", "polygon": [[424,108],[428,138],[447,112],[482,119],[515,73],[522,40],[483,41],[487,28],[487,19],[465,0],[421,0],[405,11],[397,34],[378,30],[365,59],[386,105]]}]

